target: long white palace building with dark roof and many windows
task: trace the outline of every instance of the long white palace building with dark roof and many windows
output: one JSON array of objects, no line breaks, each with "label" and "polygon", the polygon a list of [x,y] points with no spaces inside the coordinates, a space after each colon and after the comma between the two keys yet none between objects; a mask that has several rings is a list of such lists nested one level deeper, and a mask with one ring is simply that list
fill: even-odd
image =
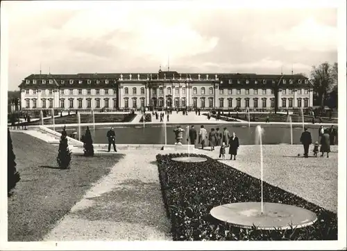
[{"label": "long white palace building with dark roof and many windows", "polygon": [[308,108],[313,86],[301,74],[31,74],[19,86],[22,109]]}]

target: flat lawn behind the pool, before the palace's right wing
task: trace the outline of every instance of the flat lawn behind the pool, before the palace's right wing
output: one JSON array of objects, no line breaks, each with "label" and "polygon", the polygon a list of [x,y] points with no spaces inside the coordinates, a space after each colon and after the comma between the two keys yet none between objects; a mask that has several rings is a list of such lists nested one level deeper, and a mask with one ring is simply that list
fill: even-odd
[{"label": "flat lawn behind the pool, before the palace's right wing", "polygon": [[[253,122],[253,116],[255,117],[255,122],[266,122],[267,116],[269,116],[269,122],[289,122],[288,115],[282,114],[282,113],[250,113],[251,115],[251,122]],[[228,117],[228,113],[224,113],[224,116]],[[237,118],[236,114],[231,114],[232,118]],[[248,114],[247,113],[239,113],[239,119],[240,120],[246,120],[248,121]],[[221,118],[222,120],[222,118]],[[304,120],[307,123],[312,122],[311,116],[304,116]],[[329,118],[322,118],[322,123],[337,123],[338,120]],[[299,115],[291,115],[291,122],[303,122],[302,117]],[[315,123],[319,123],[319,118],[315,118]]]}]

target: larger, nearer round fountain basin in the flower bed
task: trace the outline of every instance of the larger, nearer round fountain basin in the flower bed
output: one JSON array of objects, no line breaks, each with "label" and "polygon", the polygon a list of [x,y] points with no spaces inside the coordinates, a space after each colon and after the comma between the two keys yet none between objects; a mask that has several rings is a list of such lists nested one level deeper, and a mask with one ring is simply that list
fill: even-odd
[{"label": "larger, nearer round fountain basin in the flower bed", "polygon": [[211,215],[235,227],[271,230],[306,227],[317,220],[315,213],[301,207],[287,204],[264,203],[263,213],[260,202],[241,202],[214,207]]}]

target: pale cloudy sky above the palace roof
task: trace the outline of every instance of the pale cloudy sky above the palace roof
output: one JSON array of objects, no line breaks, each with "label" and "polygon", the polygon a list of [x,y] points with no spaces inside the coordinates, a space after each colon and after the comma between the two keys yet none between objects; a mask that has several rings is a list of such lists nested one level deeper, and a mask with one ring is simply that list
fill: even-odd
[{"label": "pale cloudy sky above the palace roof", "polygon": [[178,72],[279,74],[337,61],[336,4],[265,2],[8,1],[8,88],[40,64],[52,74],[157,72],[169,57]]}]

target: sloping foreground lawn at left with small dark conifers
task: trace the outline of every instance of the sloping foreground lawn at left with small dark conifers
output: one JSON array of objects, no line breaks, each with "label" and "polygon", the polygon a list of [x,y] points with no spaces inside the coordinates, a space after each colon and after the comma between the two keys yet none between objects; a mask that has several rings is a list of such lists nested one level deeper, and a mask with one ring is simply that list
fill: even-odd
[{"label": "sloping foreground lawn at left with small dark conifers", "polygon": [[21,180],[8,198],[8,241],[40,241],[93,183],[108,175],[122,155],[72,156],[60,170],[58,147],[25,133],[11,133]]}]

